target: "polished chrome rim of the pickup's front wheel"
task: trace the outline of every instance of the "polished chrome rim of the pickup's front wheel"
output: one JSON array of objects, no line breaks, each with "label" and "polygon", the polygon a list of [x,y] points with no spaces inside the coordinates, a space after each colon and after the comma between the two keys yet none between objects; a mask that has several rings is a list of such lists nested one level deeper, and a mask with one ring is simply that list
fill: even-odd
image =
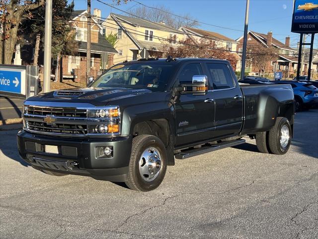
[{"label": "polished chrome rim of the pickup's front wheel", "polygon": [[153,181],[161,170],[161,159],[159,150],[150,147],[147,148],[139,159],[139,173],[147,181]]}]

